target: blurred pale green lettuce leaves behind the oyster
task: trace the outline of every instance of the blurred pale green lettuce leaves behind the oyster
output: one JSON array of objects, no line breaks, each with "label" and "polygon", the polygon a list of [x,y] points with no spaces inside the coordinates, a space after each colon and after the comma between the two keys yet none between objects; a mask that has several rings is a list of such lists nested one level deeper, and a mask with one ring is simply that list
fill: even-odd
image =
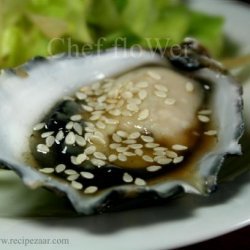
[{"label": "blurred pale green lettuce leaves behind the oyster", "polygon": [[219,56],[223,19],[178,0],[0,0],[0,68],[97,46],[166,47],[186,36]]}]

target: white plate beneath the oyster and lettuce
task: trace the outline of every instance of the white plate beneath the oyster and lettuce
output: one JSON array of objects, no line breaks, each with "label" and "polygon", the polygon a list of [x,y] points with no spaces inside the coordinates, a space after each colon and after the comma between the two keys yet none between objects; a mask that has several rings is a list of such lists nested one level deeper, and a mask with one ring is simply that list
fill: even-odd
[{"label": "white plate beneath the oyster and lettuce", "polygon": [[[250,9],[228,0],[196,0],[193,6],[224,15],[226,31],[244,47],[248,45]],[[250,173],[221,185],[218,192],[207,198],[186,196],[163,207],[91,217],[72,217],[72,214],[62,217],[60,215],[67,213],[62,199],[45,190],[28,190],[13,173],[4,171],[0,175],[0,248],[156,250],[181,247],[250,224],[249,195]],[[47,216],[51,213],[53,217]],[[3,239],[17,239],[19,244],[4,245]],[[34,245],[32,239],[67,239],[69,245]]]}]

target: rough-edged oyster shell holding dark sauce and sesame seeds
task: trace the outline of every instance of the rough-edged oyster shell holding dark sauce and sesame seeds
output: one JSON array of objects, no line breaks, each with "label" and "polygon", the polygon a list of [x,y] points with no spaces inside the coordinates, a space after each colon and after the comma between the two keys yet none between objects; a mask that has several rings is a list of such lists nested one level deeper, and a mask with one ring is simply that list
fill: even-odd
[{"label": "rough-edged oyster shell holding dark sauce and sesame seeds", "polygon": [[[16,171],[24,183],[31,188],[43,186],[67,195],[76,211],[84,214],[120,208],[121,204],[126,206],[128,204],[133,205],[134,202],[156,202],[156,200],[167,199],[183,192],[202,195],[211,193],[217,185],[217,175],[224,157],[227,154],[240,154],[241,152],[238,143],[243,133],[241,89],[223,66],[209,58],[206,51],[196,42],[186,40],[179,48],[178,56],[170,52],[168,50],[165,57],[152,52],[131,52],[123,49],[110,50],[100,55],[91,54],[85,57],[59,55],[48,59],[35,58],[19,68],[3,71],[0,77],[0,164],[5,168]],[[140,73],[141,70],[144,71]],[[162,77],[165,77],[165,80],[167,79],[164,74],[177,72],[175,77],[184,77],[181,78],[183,79],[182,83],[186,82],[186,85],[183,85],[183,89],[186,90],[184,92],[192,92],[191,94],[193,94],[193,89],[196,88],[198,95],[196,93],[192,98],[197,100],[196,104],[192,104],[191,112],[197,116],[195,118],[191,116],[186,125],[183,125],[180,121],[173,123],[173,132],[171,131],[166,136],[167,130],[164,130],[162,126],[166,121],[164,120],[165,113],[156,114],[158,111],[164,111],[162,106],[159,106],[161,107],[159,109],[152,109],[155,105],[153,101],[153,105],[152,102],[148,102],[144,109],[136,110],[138,105],[131,105],[130,108],[126,108],[126,111],[135,112],[136,119],[128,112],[127,115],[124,115],[125,118],[121,118],[121,111],[117,111],[120,112],[119,114],[109,113],[109,115],[119,117],[117,119],[121,125],[126,123],[126,119],[134,121],[132,122],[132,130],[129,126],[123,126],[123,129],[117,129],[117,127],[114,129],[111,126],[112,129],[108,132],[107,128],[103,128],[105,133],[101,139],[104,140],[104,146],[96,151],[95,142],[88,141],[89,138],[86,138],[86,134],[89,131],[91,132],[93,123],[96,125],[98,117],[97,119],[91,119],[88,115],[83,115],[84,118],[77,116],[79,115],[79,107],[83,107],[84,112],[87,112],[86,106],[91,108],[89,103],[95,103],[95,100],[101,97],[103,93],[97,93],[98,88],[100,88],[99,83],[91,85],[95,86],[97,92],[94,94],[94,99],[92,93],[89,94],[92,99],[89,97],[90,99],[86,101],[88,96],[86,91],[92,87],[85,87],[82,92],[79,89],[90,83],[101,82],[101,86],[106,86],[106,93],[112,92],[110,86],[116,86],[117,82],[107,79],[120,79],[121,86],[124,86],[124,82],[126,84],[129,82],[129,78],[126,77],[133,78],[134,71],[137,75],[145,75],[145,72],[147,72],[148,78],[151,77],[160,82],[160,84],[152,82],[150,84],[151,89],[147,89],[147,95],[150,96],[150,100],[153,96],[158,96],[161,100],[164,100],[166,112],[167,108],[174,105],[176,101],[171,95],[170,97],[168,95],[175,92],[175,84],[172,86],[173,89],[166,93],[168,89],[160,80]],[[123,78],[124,75],[126,81]],[[187,79],[189,79],[188,82]],[[142,85],[145,83],[145,79],[134,78],[133,81]],[[157,89],[158,85],[160,87]],[[178,84],[176,86],[178,87]],[[154,88],[156,89],[154,90]],[[123,90],[118,94],[121,95],[125,92]],[[78,93],[78,95],[80,93],[80,97],[75,97],[77,95],[75,93]],[[141,93],[142,100],[144,100],[145,92]],[[176,115],[178,115],[178,112],[183,112],[185,106],[192,106],[188,99],[190,93],[186,94],[186,97],[183,97],[183,100],[186,101],[183,102],[185,105],[173,111]],[[137,95],[139,96],[139,92]],[[63,100],[62,98],[66,96],[71,97]],[[136,104],[136,100],[132,104]],[[204,108],[206,109],[204,110]],[[50,110],[51,113],[48,114]],[[91,108],[92,111],[93,107]],[[100,114],[98,109],[94,109],[94,111],[97,111],[95,114]],[[151,120],[146,122],[149,113]],[[183,112],[183,115],[184,113],[188,113],[188,111]],[[57,128],[58,130],[51,131],[51,122],[57,123],[53,116],[55,114],[59,114],[58,117],[67,116],[66,121],[64,118],[62,119],[65,122],[63,124],[64,130]],[[112,117],[110,116],[106,119],[111,120]],[[192,119],[196,120],[191,126]],[[60,120],[60,122],[62,121]],[[155,122],[155,126],[151,126],[150,122],[152,121]],[[159,121],[161,123],[158,123]],[[112,124],[112,121],[109,122],[106,123]],[[74,124],[77,125],[74,127]],[[137,138],[136,136],[130,138],[128,136],[138,133],[137,130],[133,130],[136,126],[140,127],[139,130],[142,131],[139,135],[139,142],[134,140]],[[185,133],[178,130],[179,127],[185,126],[186,130],[189,130],[188,140],[184,140]],[[176,131],[174,131],[175,129]],[[71,130],[75,130],[78,139],[80,138],[78,143]],[[60,131],[61,136],[58,135]],[[125,139],[121,139],[123,137],[122,132],[126,133]],[[177,140],[179,134],[181,136]],[[113,138],[114,135],[118,139]],[[171,137],[171,135],[173,136]],[[56,136],[58,137],[56,138]],[[136,155],[139,158],[139,163],[137,158],[130,160],[127,159],[129,157],[126,157],[124,160],[124,154],[122,154],[123,159],[118,157],[118,161],[117,159],[112,160],[109,157],[114,155],[113,151],[108,153],[105,151],[110,146],[110,140],[106,140],[105,136],[111,136],[113,143],[119,144],[121,142],[119,146],[116,145],[121,152],[123,152],[123,144],[126,140],[134,140],[130,142],[133,145],[140,145],[142,141],[145,145],[151,143],[152,147],[143,144],[143,147],[147,150],[146,156],[148,158],[144,157],[144,163],[142,164],[141,158],[142,155],[145,156],[145,152],[138,153],[137,151],[136,154],[137,146],[134,146],[134,151],[129,153],[131,157]],[[84,139],[84,142],[82,139]],[[166,142],[166,140],[169,141]],[[172,140],[171,143],[170,140]],[[53,158],[57,153],[51,148],[60,145],[60,141],[63,141],[64,146],[67,146],[63,154],[68,153],[68,151],[71,152],[70,146],[73,145],[72,152],[69,155],[65,154],[66,162],[71,167],[66,168],[65,162],[57,162],[58,159]],[[94,151],[93,146],[95,147]],[[116,146],[114,150],[117,149]],[[82,152],[79,151],[79,147]],[[158,155],[154,155],[158,158],[152,160],[153,153],[156,152],[154,151],[155,147],[159,148],[159,152],[162,152],[160,148],[164,147],[165,151],[164,153],[158,152]],[[141,146],[137,149],[140,148]],[[50,150],[53,151],[53,155],[52,158],[47,159],[46,155]],[[93,152],[86,153],[86,150]],[[185,153],[182,153],[183,151]],[[99,153],[99,157],[98,154],[95,156],[95,161],[89,156],[94,152]],[[127,156],[129,155],[127,154]],[[159,157],[162,156],[164,156],[161,158],[163,161],[159,161]],[[77,159],[81,160],[77,162]],[[126,164],[123,164],[123,161]],[[78,169],[80,170],[78,171]],[[77,180],[79,176],[85,178],[84,180],[88,183],[87,186],[82,181]],[[98,181],[93,180],[91,182],[93,177],[98,177],[96,179],[102,182],[102,188],[98,187]],[[117,178],[119,181],[117,181]]]}]

